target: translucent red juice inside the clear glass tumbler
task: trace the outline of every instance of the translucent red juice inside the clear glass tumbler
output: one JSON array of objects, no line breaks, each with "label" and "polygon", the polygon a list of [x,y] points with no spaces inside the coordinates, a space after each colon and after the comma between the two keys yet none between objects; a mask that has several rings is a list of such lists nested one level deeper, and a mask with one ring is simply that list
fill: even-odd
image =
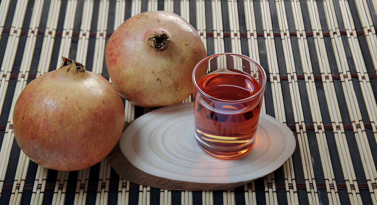
[{"label": "translucent red juice inside the clear glass tumbler", "polygon": [[[236,159],[254,147],[261,98],[247,99],[261,86],[245,72],[220,69],[207,73],[194,92],[195,136],[209,155]],[[225,150],[225,151],[224,151]]]}]

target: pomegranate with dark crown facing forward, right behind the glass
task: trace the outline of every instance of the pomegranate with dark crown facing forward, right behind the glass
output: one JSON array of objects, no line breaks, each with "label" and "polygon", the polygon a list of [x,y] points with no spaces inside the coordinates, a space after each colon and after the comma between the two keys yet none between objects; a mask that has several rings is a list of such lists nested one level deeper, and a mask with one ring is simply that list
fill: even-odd
[{"label": "pomegranate with dark crown facing forward, right behind the glass", "polygon": [[106,45],[110,78],[137,106],[175,104],[193,91],[195,65],[207,56],[200,35],[171,12],[149,11],[127,19]]}]

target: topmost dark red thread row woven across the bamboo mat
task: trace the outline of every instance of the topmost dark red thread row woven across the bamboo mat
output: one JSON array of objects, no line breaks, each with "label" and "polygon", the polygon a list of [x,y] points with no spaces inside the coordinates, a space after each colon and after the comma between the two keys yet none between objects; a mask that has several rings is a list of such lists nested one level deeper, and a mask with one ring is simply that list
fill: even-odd
[{"label": "topmost dark red thread row woven across the bamboo mat", "polygon": [[[3,33],[9,33],[10,31],[11,31],[11,29],[8,29],[8,28],[3,29]],[[377,32],[377,28],[375,29],[375,31]],[[17,30],[15,30],[14,32],[17,33]],[[369,29],[368,32],[371,32],[371,30]],[[34,34],[34,30],[32,31],[32,33]],[[38,31],[38,34],[44,35],[44,33],[45,33],[44,31]],[[347,35],[346,31],[340,31],[339,33],[340,33],[340,35]],[[49,34],[52,34],[52,31],[50,31]],[[55,36],[62,36],[62,34],[63,34],[63,32],[56,32]],[[68,35],[68,34],[69,34],[69,32],[66,32],[66,35]],[[305,32],[305,34],[306,34],[307,37],[314,35],[313,32]],[[319,32],[317,32],[316,34],[320,35]],[[333,34],[337,35],[337,32],[335,31],[335,32],[333,32]],[[350,34],[353,35],[352,32]],[[365,35],[364,31],[357,31],[356,34],[357,35]],[[21,31],[21,35],[28,35],[28,31]],[[96,35],[97,35],[97,33],[90,33],[89,37],[95,37]],[[103,35],[103,33],[100,33],[100,35]],[[112,35],[112,33],[107,33],[106,37],[110,37],[111,35]],[[201,35],[203,35],[203,34],[201,33]],[[206,36],[213,36],[213,32],[206,32],[205,35]],[[220,34],[218,34],[218,35],[220,35]],[[225,37],[229,37],[230,33],[225,32],[225,33],[223,33],[223,35]],[[250,35],[254,36],[253,33],[250,33]],[[287,35],[287,34],[284,33],[284,35]],[[295,35],[297,35],[297,33],[296,32],[289,32],[289,35],[295,36]],[[323,36],[330,36],[330,33],[329,32],[323,32],[322,35]],[[79,32],[73,32],[72,36],[80,36],[80,33]],[[83,33],[83,36],[86,36],[86,34]],[[234,33],[234,36],[237,36],[237,33]],[[241,37],[247,37],[247,33],[240,33],[240,36]],[[257,33],[257,36],[264,36],[264,33]],[[267,36],[271,36],[271,34],[267,33]],[[281,34],[280,33],[274,33],[274,36],[281,36]],[[302,34],[300,34],[300,36],[302,36]]]}]

